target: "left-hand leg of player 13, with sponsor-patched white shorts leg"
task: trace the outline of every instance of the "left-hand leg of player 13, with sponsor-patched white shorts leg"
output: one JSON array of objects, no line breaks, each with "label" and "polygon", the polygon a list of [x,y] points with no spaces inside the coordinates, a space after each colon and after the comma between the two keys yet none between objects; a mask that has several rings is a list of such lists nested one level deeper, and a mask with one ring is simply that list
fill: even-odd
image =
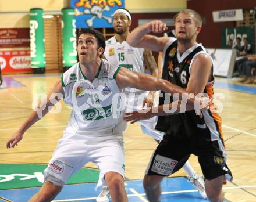
[{"label": "left-hand leg of player 13, with sponsor-patched white shorts leg", "polygon": [[[76,147],[74,147],[76,145]],[[83,142],[76,140],[59,140],[54,154],[44,170],[44,185],[30,201],[51,201],[65,185],[66,181],[76,171],[83,167],[86,160],[86,147]]]}]

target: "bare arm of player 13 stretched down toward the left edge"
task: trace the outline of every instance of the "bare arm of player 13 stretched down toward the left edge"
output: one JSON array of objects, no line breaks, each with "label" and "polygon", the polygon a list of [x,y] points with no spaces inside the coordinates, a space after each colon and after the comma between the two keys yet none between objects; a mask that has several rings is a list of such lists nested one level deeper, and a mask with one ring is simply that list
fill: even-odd
[{"label": "bare arm of player 13 stretched down toward the left edge", "polygon": [[24,132],[26,132],[27,129],[29,129],[33,124],[35,124],[35,122],[40,120],[40,118],[44,117],[45,114],[48,113],[49,107],[55,106],[56,103],[53,104],[50,100],[52,95],[54,95],[54,96],[57,95],[54,93],[61,93],[59,95],[62,95],[62,96],[55,97],[55,100],[57,100],[57,102],[59,102],[59,100],[61,100],[64,95],[64,91],[63,91],[63,88],[61,85],[61,80],[57,81],[56,84],[54,85],[54,88],[48,93],[47,100],[41,101],[44,103],[38,103],[38,108],[41,108],[41,106],[44,106],[44,109],[42,109],[40,111],[42,116],[41,117],[38,116],[38,110],[36,110],[36,111],[33,110],[31,112],[29,118],[27,118],[27,120],[24,122],[24,124],[22,124],[22,126],[19,128],[19,130],[17,132],[15,132],[15,134],[13,134],[10,137],[10,139],[7,141],[7,143],[6,143],[7,148],[15,147],[17,145],[17,143],[20,142],[20,140],[22,140]]}]

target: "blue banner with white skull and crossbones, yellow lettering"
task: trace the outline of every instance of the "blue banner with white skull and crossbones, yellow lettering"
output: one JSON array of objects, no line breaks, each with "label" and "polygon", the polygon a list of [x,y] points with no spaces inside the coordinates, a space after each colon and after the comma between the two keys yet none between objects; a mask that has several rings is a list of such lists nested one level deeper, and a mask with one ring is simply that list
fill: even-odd
[{"label": "blue banner with white skull and crossbones, yellow lettering", "polygon": [[113,13],[125,8],[125,0],[70,0],[76,15],[76,28],[109,28]]}]

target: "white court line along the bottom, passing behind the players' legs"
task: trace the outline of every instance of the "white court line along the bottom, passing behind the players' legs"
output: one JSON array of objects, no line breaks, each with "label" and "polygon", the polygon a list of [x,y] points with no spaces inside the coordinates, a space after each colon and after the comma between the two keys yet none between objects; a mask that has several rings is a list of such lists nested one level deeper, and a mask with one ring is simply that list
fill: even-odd
[{"label": "white court line along the bottom, passing behind the players' legs", "polygon": [[[228,190],[228,189],[243,189],[243,188],[254,188],[256,185],[251,185],[251,186],[233,186],[233,187],[223,187],[223,190]],[[189,193],[189,192],[198,192],[197,189],[192,189],[192,190],[182,190],[182,191],[173,191],[173,192],[162,192],[161,194],[174,194],[174,193]],[[137,193],[137,194],[127,194],[127,196],[145,196],[145,193]],[[64,200],[54,200],[52,202],[64,202],[64,201],[82,201],[82,200],[92,200],[96,199],[96,197],[90,197],[90,198],[80,198],[80,199],[64,199]]]}]

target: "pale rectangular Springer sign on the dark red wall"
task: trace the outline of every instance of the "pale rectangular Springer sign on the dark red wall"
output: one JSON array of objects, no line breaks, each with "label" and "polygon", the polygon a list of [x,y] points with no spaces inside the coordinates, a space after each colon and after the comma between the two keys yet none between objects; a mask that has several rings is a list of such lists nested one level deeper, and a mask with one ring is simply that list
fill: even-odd
[{"label": "pale rectangular Springer sign on the dark red wall", "polygon": [[243,9],[213,11],[212,18],[215,23],[223,21],[240,21],[244,19]]}]

